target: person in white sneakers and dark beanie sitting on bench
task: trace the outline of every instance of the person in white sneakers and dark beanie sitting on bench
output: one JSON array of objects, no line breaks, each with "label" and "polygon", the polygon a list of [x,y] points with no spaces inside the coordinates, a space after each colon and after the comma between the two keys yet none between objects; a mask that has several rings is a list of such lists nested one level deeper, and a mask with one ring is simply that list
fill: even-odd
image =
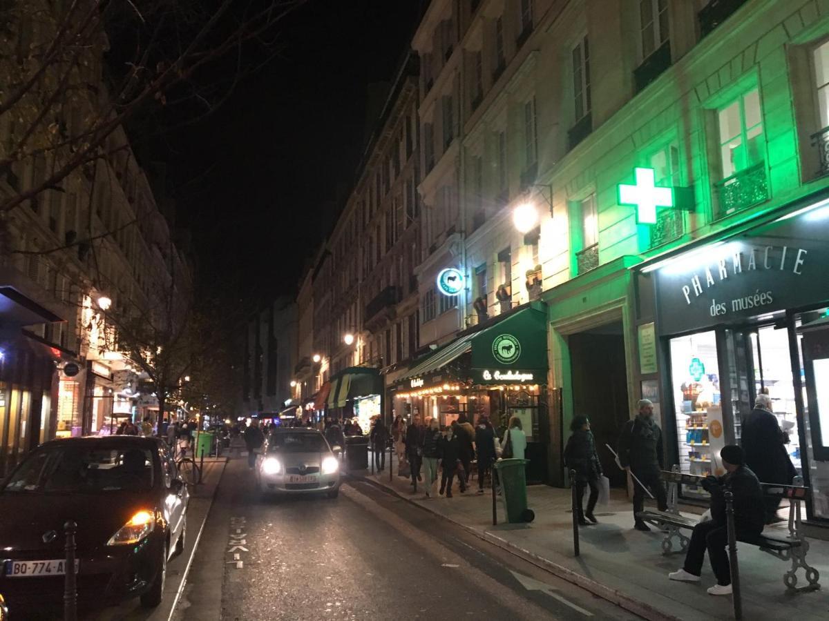
[{"label": "person in white sneakers and dark beanie sitting on bench", "polygon": [[757,476],[745,465],[745,454],[738,445],[728,445],[720,452],[725,475],[705,478],[703,487],[711,494],[711,519],[694,527],[691,543],[681,570],[668,574],[671,580],[699,582],[705,550],[717,584],[710,587],[710,595],[731,595],[731,568],[725,547],[728,529],[725,521],[725,490],[734,494],[734,530],[741,542],[754,542],[763,532],[763,489]]}]

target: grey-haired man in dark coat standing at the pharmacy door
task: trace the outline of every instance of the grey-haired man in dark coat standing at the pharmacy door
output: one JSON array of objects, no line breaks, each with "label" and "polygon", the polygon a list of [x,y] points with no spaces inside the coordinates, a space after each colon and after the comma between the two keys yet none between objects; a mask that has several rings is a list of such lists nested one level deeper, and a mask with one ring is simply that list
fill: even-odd
[{"label": "grey-haired man in dark coat standing at the pharmacy door", "polygon": [[[772,414],[772,400],[758,395],[754,410],[743,419],[740,443],[745,451],[745,465],[760,479],[760,483],[791,485],[797,470],[788,456],[786,437]],[[777,521],[780,498],[766,498],[766,523]]]}]

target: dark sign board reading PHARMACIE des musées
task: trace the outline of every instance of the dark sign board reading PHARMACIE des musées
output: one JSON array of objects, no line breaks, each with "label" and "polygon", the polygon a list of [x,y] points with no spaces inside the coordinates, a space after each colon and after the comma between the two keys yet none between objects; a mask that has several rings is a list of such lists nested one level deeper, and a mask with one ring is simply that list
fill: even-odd
[{"label": "dark sign board reading PHARMACIE des mus\u00e9es", "polygon": [[826,301],[829,205],[801,209],[680,254],[648,276],[654,280],[661,334]]}]

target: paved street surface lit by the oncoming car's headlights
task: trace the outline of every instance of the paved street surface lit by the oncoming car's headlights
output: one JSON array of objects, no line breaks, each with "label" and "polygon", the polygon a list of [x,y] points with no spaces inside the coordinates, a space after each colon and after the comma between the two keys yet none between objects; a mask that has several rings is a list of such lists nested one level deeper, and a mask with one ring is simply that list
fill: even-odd
[{"label": "paved street surface lit by the oncoming car's headlights", "polygon": [[276,502],[231,460],[174,619],[632,619],[463,529],[349,481]]}]

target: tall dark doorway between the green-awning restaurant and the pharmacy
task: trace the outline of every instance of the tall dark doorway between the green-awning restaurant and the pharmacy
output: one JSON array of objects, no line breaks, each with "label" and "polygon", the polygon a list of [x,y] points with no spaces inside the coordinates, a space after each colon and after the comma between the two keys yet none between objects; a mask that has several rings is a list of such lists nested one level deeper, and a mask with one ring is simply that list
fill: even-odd
[{"label": "tall dark doorway between the green-awning restaurant and the pharmacy", "polygon": [[[616,321],[568,337],[573,414],[590,419],[602,469],[613,487],[627,485],[605,446],[615,450],[619,431],[630,418],[623,334],[622,322]],[[570,436],[570,429],[564,436]]]}]

